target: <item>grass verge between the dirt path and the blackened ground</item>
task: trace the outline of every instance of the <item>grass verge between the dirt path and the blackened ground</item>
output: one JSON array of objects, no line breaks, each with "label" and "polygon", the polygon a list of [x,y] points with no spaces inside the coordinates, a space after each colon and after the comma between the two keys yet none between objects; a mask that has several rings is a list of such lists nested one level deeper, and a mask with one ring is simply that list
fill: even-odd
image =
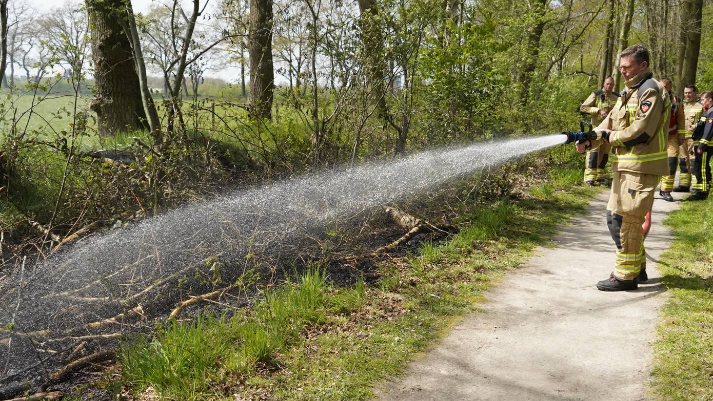
[{"label": "grass verge between the dirt path and the blackened ground", "polygon": [[459,234],[380,266],[376,286],[335,288],[314,270],[236,316],[171,323],[123,348],[123,382],[137,400],[366,400],[599,193],[563,191],[575,170],[553,177],[471,209]]}]

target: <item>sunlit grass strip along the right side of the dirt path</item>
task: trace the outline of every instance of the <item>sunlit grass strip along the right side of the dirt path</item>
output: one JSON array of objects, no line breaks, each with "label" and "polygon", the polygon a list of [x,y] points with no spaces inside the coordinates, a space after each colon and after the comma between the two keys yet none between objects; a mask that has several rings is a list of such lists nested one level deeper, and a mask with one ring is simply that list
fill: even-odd
[{"label": "sunlit grass strip along the right side of the dirt path", "polygon": [[670,295],[654,345],[657,400],[713,400],[713,199],[687,202],[665,224],[674,242],[658,268]]}]

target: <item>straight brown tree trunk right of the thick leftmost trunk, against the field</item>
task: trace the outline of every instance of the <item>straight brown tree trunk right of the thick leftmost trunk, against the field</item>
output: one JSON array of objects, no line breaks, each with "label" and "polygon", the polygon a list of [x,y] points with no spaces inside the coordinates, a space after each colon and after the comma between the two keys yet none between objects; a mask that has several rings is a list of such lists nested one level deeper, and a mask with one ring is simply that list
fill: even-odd
[{"label": "straight brown tree trunk right of the thick leftmost trunk, against the field", "polygon": [[272,119],[275,71],[272,68],[272,0],[250,0],[250,96],[255,118]]}]

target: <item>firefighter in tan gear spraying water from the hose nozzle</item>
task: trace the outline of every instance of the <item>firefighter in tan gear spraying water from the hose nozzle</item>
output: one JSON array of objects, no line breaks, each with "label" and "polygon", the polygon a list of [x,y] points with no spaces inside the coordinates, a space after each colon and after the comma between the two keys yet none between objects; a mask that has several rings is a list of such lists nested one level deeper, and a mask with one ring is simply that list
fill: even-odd
[{"label": "firefighter in tan gear spraying water from the hose nozzle", "polygon": [[[597,127],[602,140],[612,145],[614,178],[607,226],[617,246],[615,270],[597,283],[602,291],[632,290],[639,281],[647,280],[642,224],[653,205],[660,177],[669,171],[666,140],[670,100],[663,85],[652,78],[647,49],[637,44],[622,51],[620,71],[626,88]],[[588,145],[589,141],[578,142],[578,151],[583,152]]]}]

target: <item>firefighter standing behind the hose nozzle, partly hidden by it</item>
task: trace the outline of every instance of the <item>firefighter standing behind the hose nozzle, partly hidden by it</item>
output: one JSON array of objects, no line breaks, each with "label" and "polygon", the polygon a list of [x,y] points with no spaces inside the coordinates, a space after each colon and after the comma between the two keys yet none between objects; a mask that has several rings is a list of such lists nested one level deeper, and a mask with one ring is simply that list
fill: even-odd
[{"label": "firefighter standing behind the hose nozzle, partly hidden by it", "polygon": [[[587,100],[580,106],[582,113],[591,115],[593,127],[598,127],[612,108],[614,108],[618,95],[612,93],[613,88],[614,78],[607,77],[604,80],[602,88],[591,93]],[[595,182],[606,182],[605,169],[611,148],[611,145],[602,141],[599,145],[593,144],[592,147],[587,150],[584,169],[585,184],[594,185]]]}]

